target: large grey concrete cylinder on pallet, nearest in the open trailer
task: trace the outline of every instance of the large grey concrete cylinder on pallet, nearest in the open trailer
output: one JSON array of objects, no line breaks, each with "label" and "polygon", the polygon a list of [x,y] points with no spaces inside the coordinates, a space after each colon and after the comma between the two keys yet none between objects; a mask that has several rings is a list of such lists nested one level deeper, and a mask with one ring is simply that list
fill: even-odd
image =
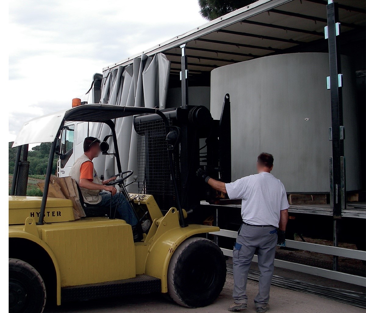
[{"label": "large grey concrete cylinder on pallet, nearest in the open trailer", "polygon": [[[354,73],[341,57],[346,188],[361,188]],[[332,143],[326,53],[273,55],[211,72],[210,110],[220,118],[231,101],[232,179],[256,173],[257,156],[273,154],[272,174],[287,192],[329,192]]]}]

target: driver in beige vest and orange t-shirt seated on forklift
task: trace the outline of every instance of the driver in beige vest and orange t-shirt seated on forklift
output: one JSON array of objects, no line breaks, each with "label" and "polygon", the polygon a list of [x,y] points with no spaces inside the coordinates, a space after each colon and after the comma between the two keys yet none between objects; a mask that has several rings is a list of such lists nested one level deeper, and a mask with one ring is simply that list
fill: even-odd
[{"label": "driver in beige vest and orange t-shirt seated on forklift", "polygon": [[[88,204],[84,208],[86,216],[110,215],[112,218],[124,219],[132,228],[137,225],[137,217],[132,211],[123,193],[117,193],[113,186],[105,186],[116,179],[112,177],[105,181],[100,181],[94,169],[93,159],[100,154],[100,140],[95,137],[87,137],[84,140],[84,154],[79,157],[70,170],[70,176],[78,183],[83,196],[84,203]],[[101,190],[109,191],[101,192]],[[111,212],[112,208],[112,212]],[[116,212],[115,212],[116,208]],[[114,216],[116,214],[116,216]]]}]

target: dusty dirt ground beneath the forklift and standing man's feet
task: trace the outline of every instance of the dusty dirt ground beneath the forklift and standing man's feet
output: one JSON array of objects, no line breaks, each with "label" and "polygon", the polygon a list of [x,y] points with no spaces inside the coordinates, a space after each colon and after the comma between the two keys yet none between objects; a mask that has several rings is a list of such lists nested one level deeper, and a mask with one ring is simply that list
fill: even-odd
[{"label": "dusty dirt ground beneath the forklift and standing man's feet", "polygon": [[[160,294],[124,296],[121,298],[69,303],[60,307],[46,309],[45,313],[224,313],[233,302],[233,276],[227,274],[224,289],[219,298],[209,306],[197,309],[188,309],[176,305],[163,298]],[[255,312],[253,299],[258,292],[258,283],[248,280],[247,294],[249,298],[248,309],[242,312]],[[271,286],[270,310],[272,313],[365,313],[365,309],[320,298],[316,295]]]}]

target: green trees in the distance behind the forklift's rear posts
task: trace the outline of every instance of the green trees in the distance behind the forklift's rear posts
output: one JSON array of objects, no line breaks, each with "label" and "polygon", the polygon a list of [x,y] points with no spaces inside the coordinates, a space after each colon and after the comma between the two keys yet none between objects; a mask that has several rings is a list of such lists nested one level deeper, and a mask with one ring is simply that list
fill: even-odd
[{"label": "green trees in the distance behind the forklift's rear posts", "polygon": [[[14,165],[16,158],[16,151],[18,148],[11,148],[12,142],[9,142],[9,174],[14,173]],[[28,161],[29,161],[29,174],[30,177],[33,175],[44,175],[47,171],[49,150],[51,149],[51,142],[41,143],[39,146],[34,147],[31,151],[28,152]],[[55,155],[53,158],[53,166],[52,173],[56,173],[56,165],[57,165],[58,156]],[[34,177],[36,178],[36,177]],[[42,178],[44,179],[44,176]]]}]

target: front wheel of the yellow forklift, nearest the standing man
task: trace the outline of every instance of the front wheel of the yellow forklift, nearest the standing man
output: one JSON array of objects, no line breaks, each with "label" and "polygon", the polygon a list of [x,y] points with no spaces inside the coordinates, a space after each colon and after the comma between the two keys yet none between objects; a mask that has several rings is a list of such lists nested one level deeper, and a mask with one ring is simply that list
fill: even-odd
[{"label": "front wheel of the yellow forklift, nearest the standing man", "polygon": [[225,284],[223,252],[208,239],[189,238],[174,252],[167,278],[168,294],[179,305],[209,305],[219,296]]}]

